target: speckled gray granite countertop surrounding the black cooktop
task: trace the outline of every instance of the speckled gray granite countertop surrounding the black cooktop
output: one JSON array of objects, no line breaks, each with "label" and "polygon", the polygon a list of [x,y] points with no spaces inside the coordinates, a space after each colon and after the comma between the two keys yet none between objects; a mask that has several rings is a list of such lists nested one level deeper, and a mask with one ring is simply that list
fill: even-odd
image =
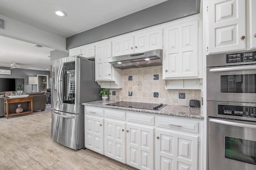
[{"label": "speckled gray granite countertop surrounding the black cooktop", "polygon": [[176,105],[167,105],[164,108],[156,111],[156,110],[148,110],[148,109],[135,109],[130,107],[119,107],[119,106],[108,106],[106,104],[118,102],[115,100],[107,100],[107,101],[94,101],[94,102],[86,102],[83,105],[86,106],[96,106],[96,107],[105,107],[110,109],[121,109],[127,111],[138,111],[144,113],[153,113],[153,114],[160,114],[160,115],[170,115],[170,116],[178,116],[178,117],[188,117],[194,119],[201,119],[203,120],[204,117],[201,113],[201,108],[194,108],[190,106],[176,106]]}]

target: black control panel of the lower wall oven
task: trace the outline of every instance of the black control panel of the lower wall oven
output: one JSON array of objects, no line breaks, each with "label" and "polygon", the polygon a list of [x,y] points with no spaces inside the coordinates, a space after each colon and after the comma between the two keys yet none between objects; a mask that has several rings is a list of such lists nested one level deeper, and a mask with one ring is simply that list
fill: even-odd
[{"label": "black control panel of the lower wall oven", "polygon": [[243,117],[256,117],[256,106],[246,107],[218,105],[218,114]]}]

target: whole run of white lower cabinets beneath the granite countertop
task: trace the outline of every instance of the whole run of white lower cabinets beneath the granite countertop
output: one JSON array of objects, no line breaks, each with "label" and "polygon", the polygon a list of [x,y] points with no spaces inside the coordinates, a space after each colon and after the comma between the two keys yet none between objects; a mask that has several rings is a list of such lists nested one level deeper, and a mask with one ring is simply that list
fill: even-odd
[{"label": "whole run of white lower cabinets beneath the granite countertop", "polygon": [[201,170],[201,125],[184,117],[85,106],[85,147],[140,170]]}]

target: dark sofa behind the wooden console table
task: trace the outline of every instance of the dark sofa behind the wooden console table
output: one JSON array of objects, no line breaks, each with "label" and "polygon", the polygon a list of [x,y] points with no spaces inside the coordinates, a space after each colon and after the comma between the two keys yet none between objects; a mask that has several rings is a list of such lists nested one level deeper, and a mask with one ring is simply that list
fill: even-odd
[{"label": "dark sofa behind the wooden console table", "polygon": [[[33,112],[37,110],[44,111],[47,101],[45,92],[35,92],[27,94],[29,94],[29,96],[33,96]],[[0,97],[0,117],[4,116],[4,98],[8,97]],[[27,102],[22,102],[20,104],[24,110],[28,109]],[[15,109],[18,107],[17,105],[18,104],[16,103],[9,104],[9,113],[15,113]]]}]

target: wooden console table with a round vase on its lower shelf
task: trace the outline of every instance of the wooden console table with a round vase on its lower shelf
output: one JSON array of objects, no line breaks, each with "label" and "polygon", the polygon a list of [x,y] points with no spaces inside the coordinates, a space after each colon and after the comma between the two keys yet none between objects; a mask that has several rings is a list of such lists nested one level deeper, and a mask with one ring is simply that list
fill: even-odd
[{"label": "wooden console table with a round vase on its lower shelf", "polygon": [[[26,113],[33,114],[33,97],[26,97],[26,98],[5,98],[4,99],[4,117],[9,118],[10,116],[22,115]],[[28,102],[28,111],[23,111],[21,113],[9,113],[9,104],[11,103],[21,103],[21,102]],[[17,104],[18,106],[18,104]]]}]

